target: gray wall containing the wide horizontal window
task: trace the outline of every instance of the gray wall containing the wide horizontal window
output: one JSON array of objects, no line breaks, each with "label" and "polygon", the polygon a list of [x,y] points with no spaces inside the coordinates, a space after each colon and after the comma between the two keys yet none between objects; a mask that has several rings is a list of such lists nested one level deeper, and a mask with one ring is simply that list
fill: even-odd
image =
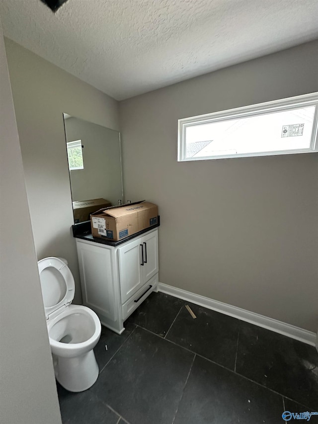
[{"label": "gray wall containing the wide horizontal window", "polygon": [[177,120],[318,91],[318,41],[120,103],[124,192],[158,203],[159,280],[311,331],[318,156],[177,163]]}]

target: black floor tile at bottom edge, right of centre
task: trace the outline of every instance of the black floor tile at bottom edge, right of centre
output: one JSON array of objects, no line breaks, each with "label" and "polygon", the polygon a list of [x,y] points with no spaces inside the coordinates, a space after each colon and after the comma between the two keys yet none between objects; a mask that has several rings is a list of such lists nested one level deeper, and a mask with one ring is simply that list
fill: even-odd
[{"label": "black floor tile at bottom edge, right of centre", "polygon": [[174,424],[277,424],[282,413],[282,396],[196,356]]}]

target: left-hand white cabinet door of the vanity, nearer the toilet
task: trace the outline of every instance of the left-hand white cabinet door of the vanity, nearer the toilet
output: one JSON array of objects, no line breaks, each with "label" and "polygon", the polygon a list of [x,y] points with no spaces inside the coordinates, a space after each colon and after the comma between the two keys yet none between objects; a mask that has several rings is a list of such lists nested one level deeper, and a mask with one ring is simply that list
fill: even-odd
[{"label": "left-hand white cabinet door of the vanity, nearer the toilet", "polygon": [[143,266],[141,266],[142,239],[138,238],[133,242],[118,249],[119,276],[121,303],[128,300],[138,291],[143,281]]}]

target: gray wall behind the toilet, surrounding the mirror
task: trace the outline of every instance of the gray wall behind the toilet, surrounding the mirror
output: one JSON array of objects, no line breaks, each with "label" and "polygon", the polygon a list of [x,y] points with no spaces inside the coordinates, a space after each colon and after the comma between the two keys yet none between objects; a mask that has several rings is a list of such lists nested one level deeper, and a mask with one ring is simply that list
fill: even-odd
[{"label": "gray wall behind the toilet, surrounding the mirror", "polygon": [[118,130],[118,102],[5,39],[38,259],[68,259],[81,303],[63,112]]}]

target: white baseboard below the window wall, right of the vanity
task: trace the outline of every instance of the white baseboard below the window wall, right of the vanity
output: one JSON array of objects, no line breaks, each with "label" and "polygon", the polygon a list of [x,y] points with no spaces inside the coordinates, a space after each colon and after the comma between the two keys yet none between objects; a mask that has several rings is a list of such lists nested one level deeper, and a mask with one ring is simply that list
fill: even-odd
[{"label": "white baseboard below the window wall, right of the vanity", "polygon": [[245,311],[237,306],[228,305],[227,303],[200,296],[199,294],[191,293],[167,284],[159,283],[158,290],[162,293],[186,300],[187,302],[195,303],[205,308],[212,309],[213,311],[221,312],[230,317],[238,318],[239,320],[291,337],[292,339],[300,340],[313,346],[316,344],[316,334],[308,330],[282,323],[281,321],[255,314],[254,312]]}]

